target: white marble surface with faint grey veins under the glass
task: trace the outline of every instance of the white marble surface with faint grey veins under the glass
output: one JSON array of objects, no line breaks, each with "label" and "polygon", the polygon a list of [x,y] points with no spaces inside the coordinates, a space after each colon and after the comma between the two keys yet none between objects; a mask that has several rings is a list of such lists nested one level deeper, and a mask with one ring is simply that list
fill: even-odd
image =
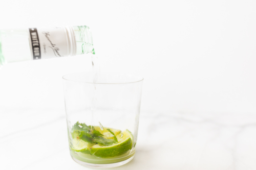
[{"label": "white marble surface with faint grey veins under the glass", "polygon": [[[256,113],[142,111],[134,159],[113,169],[256,169]],[[69,155],[64,110],[0,109],[0,169],[91,169]]]}]

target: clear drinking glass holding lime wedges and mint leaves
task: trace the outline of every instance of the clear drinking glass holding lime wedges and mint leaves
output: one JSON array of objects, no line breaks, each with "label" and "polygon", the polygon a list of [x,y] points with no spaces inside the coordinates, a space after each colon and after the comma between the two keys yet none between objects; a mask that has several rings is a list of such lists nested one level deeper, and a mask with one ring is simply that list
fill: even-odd
[{"label": "clear drinking glass holding lime wedges and mint leaves", "polygon": [[70,154],[84,166],[131,161],[138,135],[143,78],[129,74],[63,76]]}]

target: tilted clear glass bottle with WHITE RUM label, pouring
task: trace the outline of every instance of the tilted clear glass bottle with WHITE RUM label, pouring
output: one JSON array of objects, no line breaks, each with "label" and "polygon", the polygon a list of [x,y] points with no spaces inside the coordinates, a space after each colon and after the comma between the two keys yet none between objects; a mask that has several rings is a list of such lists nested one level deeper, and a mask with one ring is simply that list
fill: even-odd
[{"label": "tilted clear glass bottle with WHITE RUM label, pouring", "polygon": [[87,53],[95,54],[87,26],[0,30],[0,66]]}]

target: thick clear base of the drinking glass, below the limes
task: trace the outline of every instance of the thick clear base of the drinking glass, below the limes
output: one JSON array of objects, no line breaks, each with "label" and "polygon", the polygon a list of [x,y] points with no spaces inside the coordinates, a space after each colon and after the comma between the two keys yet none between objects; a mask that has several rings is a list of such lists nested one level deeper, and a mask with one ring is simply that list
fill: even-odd
[{"label": "thick clear base of the drinking glass, below the limes", "polygon": [[83,162],[83,161],[80,161],[76,158],[74,158],[72,155],[71,155],[72,159],[79,163],[80,165],[83,165],[83,166],[86,166],[86,167],[91,167],[91,168],[111,168],[111,167],[117,167],[117,166],[121,166],[121,165],[124,165],[128,162],[130,162],[133,158],[134,158],[134,155],[129,158],[129,159],[126,159],[124,161],[121,161],[121,162],[117,162],[117,163],[109,163],[109,164],[94,164],[94,163],[87,163],[87,162]]}]

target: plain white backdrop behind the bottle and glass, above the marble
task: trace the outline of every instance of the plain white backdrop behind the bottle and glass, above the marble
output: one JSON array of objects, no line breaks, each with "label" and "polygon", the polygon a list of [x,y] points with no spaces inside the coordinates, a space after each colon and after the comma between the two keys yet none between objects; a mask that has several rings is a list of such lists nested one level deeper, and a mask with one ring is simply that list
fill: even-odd
[{"label": "plain white backdrop behind the bottle and glass, above the marble", "polygon": [[[141,110],[256,112],[255,1],[1,0],[1,28],[87,25],[101,71],[144,77]],[[90,56],[11,63],[2,108],[63,109]]]}]

